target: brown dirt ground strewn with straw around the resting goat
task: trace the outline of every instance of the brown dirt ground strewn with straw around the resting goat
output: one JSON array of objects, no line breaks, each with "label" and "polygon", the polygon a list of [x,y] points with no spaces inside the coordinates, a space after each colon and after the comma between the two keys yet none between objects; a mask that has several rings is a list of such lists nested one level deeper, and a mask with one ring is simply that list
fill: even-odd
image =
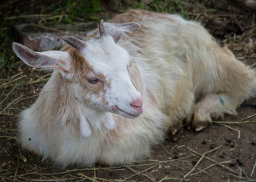
[{"label": "brown dirt ground strewn with straw around the resting goat", "polygon": [[[188,8],[190,19],[202,22],[219,44],[255,68],[255,14],[234,5],[212,13],[216,4],[206,10],[207,4],[199,2]],[[133,165],[55,167],[16,143],[18,113],[34,103],[49,76],[20,62],[0,80],[0,181],[256,181],[256,98],[239,107],[237,115],[218,120],[229,123],[213,123],[201,132],[184,127],[179,141],[166,138],[151,157]]]}]

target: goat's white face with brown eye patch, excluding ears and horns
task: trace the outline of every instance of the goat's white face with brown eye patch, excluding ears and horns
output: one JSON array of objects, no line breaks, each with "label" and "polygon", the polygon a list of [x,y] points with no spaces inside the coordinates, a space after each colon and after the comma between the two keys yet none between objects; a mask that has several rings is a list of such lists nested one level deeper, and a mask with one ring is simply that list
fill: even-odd
[{"label": "goat's white face with brown eye patch, excluding ears and horns", "polygon": [[[80,86],[86,87],[85,102],[95,109],[135,118],[143,112],[140,93],[130,81],[129,53],[115,44],[112,36],[91,38],[80,55],[84,57]],[[77,92],[79,93],[79,92]]]}]

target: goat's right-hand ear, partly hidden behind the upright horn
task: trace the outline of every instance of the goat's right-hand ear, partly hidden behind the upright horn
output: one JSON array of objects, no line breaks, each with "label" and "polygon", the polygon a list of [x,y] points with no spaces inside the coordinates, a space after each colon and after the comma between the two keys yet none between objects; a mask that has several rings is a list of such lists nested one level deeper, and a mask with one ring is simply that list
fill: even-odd
[{"label": "goat's right-hand ear, partly hidden behind the upright horn", "polygon": [[[127,22],[124,24],[112,24],[112,23],[103,23],[104,24],[104,31],[108,35],[112,36],[115,42],[121,38],[124,33],[134,33],[138,29],[140,29],[140,24],[137,22]],[[99,26],[99,30],[101,30],[101,24]],[[101,31],[99,31],[101,33]]]}]

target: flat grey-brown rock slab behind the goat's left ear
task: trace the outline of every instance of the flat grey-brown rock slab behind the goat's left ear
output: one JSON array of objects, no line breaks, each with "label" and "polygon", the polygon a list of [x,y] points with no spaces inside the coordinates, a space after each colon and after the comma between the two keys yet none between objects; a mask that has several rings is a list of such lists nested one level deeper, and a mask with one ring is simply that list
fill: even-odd
[{"label": "flat grey-brown rock slab behind the goat's left ear", "polygon": [[82,22],[76,25],[55,25],[50,29],[43,28],[40,25],[20,24],[15,25],[15,31],[18,35],[18,42],[29,47],[32,50],[54,50],[59,49],[66,42],[62,40],[65,35],[74,36],[83,39],[88,30],[97,27],[97,22]]}]

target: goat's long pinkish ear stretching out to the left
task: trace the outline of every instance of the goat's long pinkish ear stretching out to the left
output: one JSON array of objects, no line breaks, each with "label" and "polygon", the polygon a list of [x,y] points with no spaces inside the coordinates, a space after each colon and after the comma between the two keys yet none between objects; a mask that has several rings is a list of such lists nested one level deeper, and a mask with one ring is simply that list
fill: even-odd
[{"label": "goat's long pinkish ear stretching out to the left", "polygon": [[55,68],[64,73],[68,72],[71,66],[72,59],[67,52],[57,50],[35,52],[16,42],[13,42],[12,49],[28,66],[46,69]]}]

